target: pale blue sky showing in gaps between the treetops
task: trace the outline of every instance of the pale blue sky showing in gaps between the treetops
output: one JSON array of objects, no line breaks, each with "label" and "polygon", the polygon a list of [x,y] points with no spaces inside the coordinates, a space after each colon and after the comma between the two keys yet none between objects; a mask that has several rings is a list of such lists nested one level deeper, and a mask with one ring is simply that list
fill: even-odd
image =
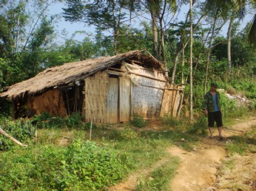
[{"label": "pale blue sky showing in gaps between the treetops", "polygon": [[[54,5],[49,7],[49,15],[61,14],[61,12],[63,12],[62,8],[64,6],[65,6],[64,3],[55,3]],[[189,9],[188,5],[183,6],[177,19],[185,20],[185,14],[187,13],[188,9]],[[149,18],[149,15],[144,15],[144,16],[146,18]],[[246,26],[246,23],[249,22],[252,18],[253,16],[251,14],[247,14],[245,18],[240,21],[241,23],[240,29],[244,28]],[[138,19],[133,20],[131,24],[134,27],[139,27],[141,20],[146,20],[147,22],[149,22],[148,19],[140,18],[139,20]],[[61,34],[61,31],[63,31],[63,29],[65,29],[68,32],[68,37],[71,37],[71,35],[76,31],[86,31],[86,32],[92,33],[92,35],[90,35],[90,37],[92,37],[95,28],[93,26],[86,26],[84,23],[66,22],[63,18],[61,18],[59,22],[57,22],[55,25],[55,31]],[[228,24],[225,24],[225,26],[222,28],[220,35],[226,36],[227,31],[228,31]],[[78,41],[82,41],[84,37],[86,37],[85,34],[76,34],[75,39]],[[64,40],[61,39],[61,37],[58,37],[56,41],[58,43],[63,43]]]}]

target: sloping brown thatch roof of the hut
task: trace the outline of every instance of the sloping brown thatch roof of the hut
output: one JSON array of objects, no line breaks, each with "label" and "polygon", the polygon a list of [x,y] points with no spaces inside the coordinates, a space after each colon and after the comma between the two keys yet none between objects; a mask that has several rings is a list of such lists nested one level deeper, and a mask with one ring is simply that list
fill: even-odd
[{"label": "sloping brown thatch roof of the hut", "polygon": [[155,58],[143,55],[139,50],[133,50],[117,56],[93,58],[89,60],[65,63],[61,66],[48,68],[34,78],[16,83],[8,91],[0,94],[9,99],[24,95],[34,95],[44,92],[56,86],[61,86],[77,80],[82,80],[97,71],[111,67],[122,60],[137,60],[143,63],[144,67],[152,67],[162,70],[162,64]]}]

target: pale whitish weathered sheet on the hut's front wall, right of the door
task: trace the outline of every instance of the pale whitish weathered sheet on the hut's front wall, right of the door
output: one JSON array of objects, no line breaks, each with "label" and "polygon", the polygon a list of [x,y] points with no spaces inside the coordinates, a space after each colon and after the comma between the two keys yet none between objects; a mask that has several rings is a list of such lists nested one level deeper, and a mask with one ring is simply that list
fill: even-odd
[{"label": "pale whitish weathered sheet on the hut's front wall, right of the door", "polygon": [[131,113],[138,114],[143,118],[158,118],[162,104],[163,88],[166,86],[164,75],[138,65],[129,67],[127,63],[122,66],[122,69],[159,79],[131,74],[131,82],[133,82],[131,86]]}]

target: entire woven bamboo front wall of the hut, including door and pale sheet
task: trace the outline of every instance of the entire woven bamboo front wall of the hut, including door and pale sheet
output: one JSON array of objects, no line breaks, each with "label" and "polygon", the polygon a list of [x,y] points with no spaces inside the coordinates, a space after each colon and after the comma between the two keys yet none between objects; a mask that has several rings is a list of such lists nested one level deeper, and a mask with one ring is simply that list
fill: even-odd
[{"label": "entire woven bamboo front wall of the hut, including door and pale sheet", "polygon": [[85,121],[117,124],[130,121],[133,114],[148,119],[177,115],[182,91],[167,85],[162,73],[136,65],[117,70],[98,71],[85,78]]}]

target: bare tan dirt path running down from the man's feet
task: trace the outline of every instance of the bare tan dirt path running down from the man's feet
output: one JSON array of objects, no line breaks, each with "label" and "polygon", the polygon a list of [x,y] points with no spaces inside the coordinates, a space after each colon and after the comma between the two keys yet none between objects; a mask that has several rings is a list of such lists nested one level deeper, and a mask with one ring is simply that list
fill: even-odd
[{"label": "bare tan dirt path running down from the man's feet", "polygon": [[[216,174],[221,160],[226,156],[225,143],[228,137],[245,133],[252,125],[256,124],[256,118],[240,122],[224,129],[225,141],[204,138],[200,145],[192,152],[181,150],[178,147],[168,148],[168,151],[181,159],[177,175],[170,182],[172,191],[197,191],[204,190],[216,181]],[[217,134],[217,132],[215,132]]]}]

